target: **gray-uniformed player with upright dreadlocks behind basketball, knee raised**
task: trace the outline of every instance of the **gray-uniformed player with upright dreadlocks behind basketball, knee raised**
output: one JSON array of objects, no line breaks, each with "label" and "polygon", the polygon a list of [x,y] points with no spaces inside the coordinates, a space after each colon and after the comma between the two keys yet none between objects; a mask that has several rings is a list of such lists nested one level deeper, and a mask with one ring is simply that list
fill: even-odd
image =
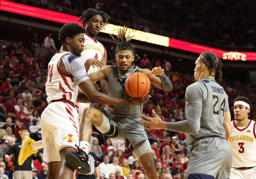
[{"label": "gray-uniformed player with upright dreadlocks behind basketball, knee raised", "polygon": [[[101,79],[108,80],[108,95],[123,99],[130,99],[124,89],[124,82],[130,74],[136,72],[147,75],[150,82],[156,87],[171,91],[172,83],[165,76],[161,67],[155,67],[150,71],[132,65],[132,62],[139,59],[139,57],[134,54],[134,47],[130,43],[132,36],[126,36],[126,31],[127,28],[125,27],[119,29],[117,39],[112,36],[113,39],[119,42],[116,49],[113,49],[117,66],[105,66],[99,71],[89,74],[89,78],[92,82]],[[81,140],[89,141],[92,128],[94,131],[114,140],[125,140],[132,153],[140,161],[148,178],[156,179],[152,150],[144,127],[140,124],[143,105],[112,105],[111,107],[112,110],[110,110],[109,116],[95,108],[84,110],[81,122],[81,129],[83,130],[80,130]]]}]

